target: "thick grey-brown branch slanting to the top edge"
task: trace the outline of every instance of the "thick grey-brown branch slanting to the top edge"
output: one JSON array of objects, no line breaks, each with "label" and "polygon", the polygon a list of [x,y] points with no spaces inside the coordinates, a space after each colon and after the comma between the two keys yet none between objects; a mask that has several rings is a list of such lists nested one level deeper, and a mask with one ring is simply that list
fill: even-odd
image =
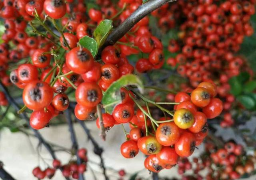
[{"label": "thick grey-brown branch slanting to the top edge", "polygon": [[131,14],[120,26],[114,29],[104,42],[102,48],[114,45],[120,38],[122,38],[133,26],[139,22],[142,18],[150,14],[150,12],[160,8],[167,2],[174,0],[149,0],[145,4],[142,4],[134,13]]}]

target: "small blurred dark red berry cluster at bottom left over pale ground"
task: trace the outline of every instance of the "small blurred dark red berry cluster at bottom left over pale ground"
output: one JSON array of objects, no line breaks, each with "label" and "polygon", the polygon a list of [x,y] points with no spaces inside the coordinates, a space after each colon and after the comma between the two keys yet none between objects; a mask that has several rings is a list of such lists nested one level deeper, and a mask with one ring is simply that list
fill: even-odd
[{"label": "small blurred dark red berry cluster at bottom left over pale ground", "polygon": [[51,179],[56,169],[62,170],[62,175],[66,178],[72,176],[74,179],[79,178],[79,174],[82,174],[86,171],[86,162],[87,159],[87,150],[85,148],[81,148],[77,152],[78,158],[82,160],[81,164],[77,164],[75,161],[71,161],[68,164],[61,165],[60,160],[54,159],[52,161],[53,168],[46,168],[45,170],[41,170],[40,167],[36,167],[32,170],[32,174],[38,179],[44,179],[45,177]]}]

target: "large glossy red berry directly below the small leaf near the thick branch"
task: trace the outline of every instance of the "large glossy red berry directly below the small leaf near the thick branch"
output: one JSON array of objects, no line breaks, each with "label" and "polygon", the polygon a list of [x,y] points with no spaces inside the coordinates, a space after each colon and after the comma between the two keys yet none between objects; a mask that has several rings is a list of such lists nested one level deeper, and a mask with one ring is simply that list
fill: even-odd
[{"label": "large glossy red berry directly below the small leaf near the thick branch", "polygon": [[66,55],[66,64],[70,70],[77,74],[88,72],[93,66],[94,58],[86,48],[73,48]]}]

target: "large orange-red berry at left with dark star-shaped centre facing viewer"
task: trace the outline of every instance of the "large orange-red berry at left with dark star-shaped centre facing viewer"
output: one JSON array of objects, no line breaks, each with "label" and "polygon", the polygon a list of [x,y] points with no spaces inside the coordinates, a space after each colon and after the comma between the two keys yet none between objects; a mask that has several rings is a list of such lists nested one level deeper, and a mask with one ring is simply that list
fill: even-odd
[{"label": "large orange-red berry at left with dark star-shaped centre facing viewer", "polygon": [[42,110],[52,102],[53,90],[46,82],[33,81],[24,88],[22,98],[28,108]]}]

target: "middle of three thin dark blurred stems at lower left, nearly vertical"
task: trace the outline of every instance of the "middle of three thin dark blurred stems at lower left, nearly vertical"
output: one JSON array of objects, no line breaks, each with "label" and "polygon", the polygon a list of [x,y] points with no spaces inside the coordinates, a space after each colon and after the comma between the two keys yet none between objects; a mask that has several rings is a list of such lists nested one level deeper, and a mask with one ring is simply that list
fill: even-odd
[{"label": "middle of three thin dark blurred stems at lower left, nearly vertical", "polygon": [[[73,122],[72,122],[72,118],[71,118],[71,114],[70,114],[70,109],[67,109],[66,111],[64,111],[64,114],[67,118],[68,121],[68,128],[69,128],[69,132],[70,132],[70,138],[72,141],[72,149],[74,150],[74,153],[76,154],[76,162],[77,164],[81,164],[81,159],[79,158],[78,154],[77,154],[77,150],[78,150],[78,143],[76,140],[76,134],[74,131],[74,126],[73,126]],[[84,180],[84,174],[83,173],[79,173],[79,180]]]}]

